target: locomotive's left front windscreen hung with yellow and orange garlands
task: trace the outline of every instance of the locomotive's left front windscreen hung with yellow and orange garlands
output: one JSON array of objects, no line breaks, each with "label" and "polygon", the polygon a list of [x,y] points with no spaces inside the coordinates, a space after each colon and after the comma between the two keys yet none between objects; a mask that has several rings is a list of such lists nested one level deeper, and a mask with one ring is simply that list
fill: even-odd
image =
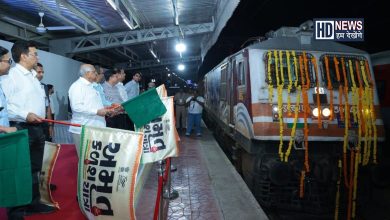
[{"label": "locomotive's left front windscreen hung with yellow and orange garlands", "polygon": [[[287,54],[289,59],[287,59]],[[265,59],[265,81],[272,84],[275,88],[279,84],[283,84],[287,88],[292,84],[294,88],[295,81],[298,85],[306,85],[310,81],[310,87],[315,86],[314,79],[314,64],[312,63],[312,55],[309,53],[292,51],[268,51]]]}]

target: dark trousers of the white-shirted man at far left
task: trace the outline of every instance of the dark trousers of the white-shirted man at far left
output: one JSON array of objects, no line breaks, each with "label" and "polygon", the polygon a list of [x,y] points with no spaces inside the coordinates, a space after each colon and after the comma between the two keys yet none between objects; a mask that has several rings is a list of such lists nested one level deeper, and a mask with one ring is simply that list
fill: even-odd
[{"label": "dark trousers of the white-shirted man at far left", "polygon": [[45,134],[42,124],[28,124],[24,122],[10,122],[18,130],[27,129],[30,147],[31,174],[33,181],[32,203],[39,202],[39,173],[42,169],[43,152],[45,147]]}]

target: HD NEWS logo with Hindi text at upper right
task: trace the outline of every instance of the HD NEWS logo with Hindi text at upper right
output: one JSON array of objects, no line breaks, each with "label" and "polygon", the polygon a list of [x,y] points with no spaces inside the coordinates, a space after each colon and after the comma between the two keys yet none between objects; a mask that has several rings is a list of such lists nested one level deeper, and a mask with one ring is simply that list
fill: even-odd
[{"label": "HD NEWS logo with Hindi text at upper right", "polygon": [[314,35],[316,40],[364,41],[364,19],[314,19]]}]

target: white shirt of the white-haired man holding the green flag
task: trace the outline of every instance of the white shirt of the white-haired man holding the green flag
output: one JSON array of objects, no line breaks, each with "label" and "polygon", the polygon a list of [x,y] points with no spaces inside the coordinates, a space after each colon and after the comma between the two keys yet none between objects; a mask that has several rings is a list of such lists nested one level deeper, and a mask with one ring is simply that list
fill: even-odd
[{"label": "white shirt of the white-haired man holding the green flag", "polygon": [[[80,77],[69,88],[70,107],[72,108],[72,120],[74,124],[106,127],[104,117],[97,115],[97,111],[103,108],[99,92],[92,87],[92,83]],[[81,127],[69,127],[69,132],[81,133]]]}]

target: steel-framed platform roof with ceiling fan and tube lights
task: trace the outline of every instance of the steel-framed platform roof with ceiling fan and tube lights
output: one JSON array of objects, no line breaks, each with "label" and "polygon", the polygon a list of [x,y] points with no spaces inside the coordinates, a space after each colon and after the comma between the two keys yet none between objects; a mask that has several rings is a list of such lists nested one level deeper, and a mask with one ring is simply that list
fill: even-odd
[{"label": "steel-framed platform roof with ceiling fan and tube lights", "polygon": [[[236,6],[239,1],[234,1]],[[196,73],[202,41],[214,32],[218,7],[226,4],[221,2],[0,0],[0,36],[9,41],[34,40],[40,48],[107,67],[173,70],[185,62],[187,71]],[[46,33],[36,29],[39,12],[44,12]],[[72,29],[53,30],[69,26]],[[178,41],[187,44],[181,55],[174,49]]]}]

